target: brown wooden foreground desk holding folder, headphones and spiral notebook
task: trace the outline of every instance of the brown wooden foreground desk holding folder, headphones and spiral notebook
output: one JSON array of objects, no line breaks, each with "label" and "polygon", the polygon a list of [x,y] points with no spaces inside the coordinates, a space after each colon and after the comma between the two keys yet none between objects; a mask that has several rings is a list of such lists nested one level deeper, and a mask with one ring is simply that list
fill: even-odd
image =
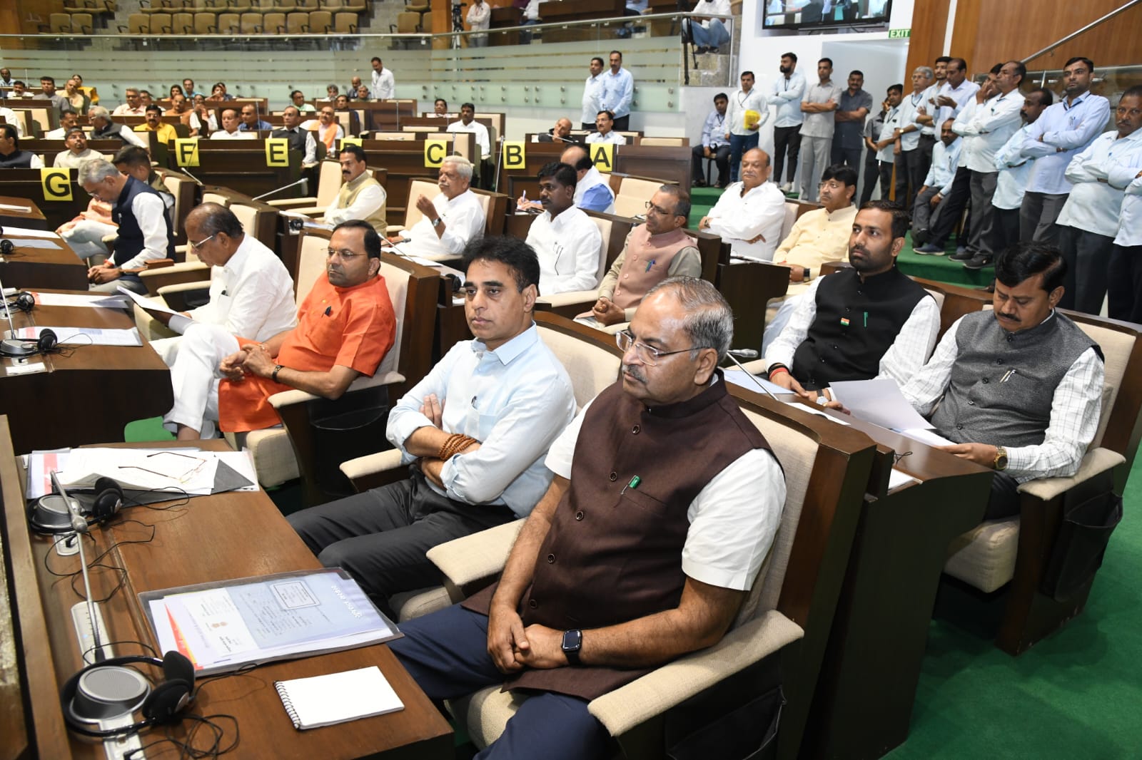
[{"label": "brown wooden foreground desk holding folder, headphones and spiral notebook", "polygon": [[[19,472],[7,438],[6,425],[0,418],[0,480],[3,483],[7,535],[11,536],[11,545],[7,549],[15,560],[13,581],[23,634],[24,672],[34,673],[26,685],[31,702],[27,734],[35,737],[42,758],[103,758],[102,745],[70,737],[64,730],[58,688],[81,662],[71,622],[71,606],[80,599],[66,583],[43,568],[51,541],[27,532],[23,498],[18,486],[13,486],[13,482],[21,482]],[[207,442],[207,446],[226,448],[222,440]],[[235,515],[241,516],[242,525],[257,526],[257,529],[232,529]],[[320,567],[260,491],[198,496],[186,508],[168,512],[128,509],[124,517],[154,525],[154,539],[146,543],[126,543],[145,540],[152,531],[126,520],[93,531],[96,552],[118,542],[103,561],[126,573],[127,579],[123,588],[103,604],[112,641],[155,644],[138,601],[139,592]],[[77,557],[62,558],[53,553],[50,561],[57,572],[79,567]],[[115,572],[93,572],[93,593],[108,595],[116,581]],[[115,647],[116,655],[138,652],[130,645]],[[340,723],[336,728],[307,731],[292,728],[274,690],[275,680],[368,665],[381,669],[404,703],[404,710]],[[45,678],[48,673],[51,677]],[[147,672],[147,676],[153,673]],[[241,744],[227,757],[336,759],[369,755],[409,760],[452,757],[452,731],[448,722],[384,645],[270,663],[243,676],[200,686],[191,712],[227,713],[239,722]],[[186,726],[188,723],[176,728],[175,734],[183,734]],[[159,734],[161,731],[144,734],[143,739],[154,741]],[[233,728],[226,725],[226,736],[233,738]]]}]

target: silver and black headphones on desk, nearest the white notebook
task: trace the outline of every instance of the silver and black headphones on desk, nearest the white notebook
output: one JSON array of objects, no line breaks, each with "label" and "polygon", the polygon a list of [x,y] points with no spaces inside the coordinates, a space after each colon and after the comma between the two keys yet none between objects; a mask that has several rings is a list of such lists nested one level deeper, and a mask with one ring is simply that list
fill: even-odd
[{"label": "silver and black headphones on desk, nearest the white notebook", "polygon": [[[151,682],[132,664],[162,669],[163,680]],[[121,736],[144,728],[174,723],[194,701],[194,664],[183,654],[170,650],[158,657],[132,655],[112,657],[82,668],[59,690],[64,722],[83,736]],[[91,728],[91,723],[143,713],[143,720],[119,728]]]}]

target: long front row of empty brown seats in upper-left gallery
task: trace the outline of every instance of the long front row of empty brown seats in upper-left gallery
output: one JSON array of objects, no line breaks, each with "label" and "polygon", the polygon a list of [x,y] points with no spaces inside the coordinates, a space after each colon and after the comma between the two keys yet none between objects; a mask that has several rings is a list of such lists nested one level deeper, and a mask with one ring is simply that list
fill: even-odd
[{"label": "long front row of empty brown seats in upper-left gallery", "polygon": [[357,14],[311,13],[156,13],[131,14],[124,34],[354,34]]}]

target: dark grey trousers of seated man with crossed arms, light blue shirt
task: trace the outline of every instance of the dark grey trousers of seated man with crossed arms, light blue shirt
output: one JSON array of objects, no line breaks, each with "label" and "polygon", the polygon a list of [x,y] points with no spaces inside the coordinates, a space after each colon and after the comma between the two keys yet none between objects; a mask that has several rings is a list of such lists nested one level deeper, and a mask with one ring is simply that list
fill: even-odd
[{"label": "dark grey trousers of seated man with crossed arms, light blue shirt", "polygon": [[515,515],[502,506],[441,496],[413,469],[408,480],[311,507],[287,519],[322,565],[347,569],[392,616],[388,597],[441,582],[426,551],[514,520]]}]

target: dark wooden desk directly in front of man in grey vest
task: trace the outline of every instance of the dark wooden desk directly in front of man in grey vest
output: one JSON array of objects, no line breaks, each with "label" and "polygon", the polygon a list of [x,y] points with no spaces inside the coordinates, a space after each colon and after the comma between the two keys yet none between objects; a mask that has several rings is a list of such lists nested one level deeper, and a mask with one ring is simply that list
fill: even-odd
[{"label": "dark wooden desk directly in front of man in grey vest", "polygon": [[[844,419],[877,443],[878,455],[801,746],[806,758],[879,758],[908,737],[948,545],[983,518],[994,476]],[[896,468],[919,483],[888,492],[894,453],[903,454]]]}]

